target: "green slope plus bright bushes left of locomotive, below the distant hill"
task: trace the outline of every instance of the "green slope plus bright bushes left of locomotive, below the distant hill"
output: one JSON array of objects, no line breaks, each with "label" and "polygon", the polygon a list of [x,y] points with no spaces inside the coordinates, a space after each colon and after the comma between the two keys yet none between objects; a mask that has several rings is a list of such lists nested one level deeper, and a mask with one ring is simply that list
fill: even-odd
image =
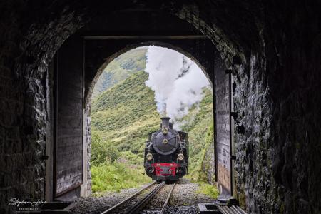
[{"label": "green slope plus bright bushes left of locomotive, below the distant hill", "polygon": [[147,79],[148,73],[138,71],[92,103],[92,189],[98,195],[151,181],[143,175],[143,149],[160,116]]}]

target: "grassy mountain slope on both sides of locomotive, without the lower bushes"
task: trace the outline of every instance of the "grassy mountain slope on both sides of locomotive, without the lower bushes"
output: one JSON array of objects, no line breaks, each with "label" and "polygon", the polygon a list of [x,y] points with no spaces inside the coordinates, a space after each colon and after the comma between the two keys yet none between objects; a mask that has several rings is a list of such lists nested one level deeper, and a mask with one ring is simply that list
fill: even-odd
[{"label": "grassy mountain slope on both sides of locomotive, without the lower bushes", "polygon": [[[112,141],[120,151],[131,151],[143,156],[148,133],[159,127],[160,115],[156,109],[154,93],[145,85],[148,74],[138,71],[108,91],[101,93],[92,104],[93,134],[104,141]],[[205,150],[213,144],[213,93],[204,88],[200,103],[195,103],[186,116],[178,121],[190,141],[190,173],[198,178]]]}]

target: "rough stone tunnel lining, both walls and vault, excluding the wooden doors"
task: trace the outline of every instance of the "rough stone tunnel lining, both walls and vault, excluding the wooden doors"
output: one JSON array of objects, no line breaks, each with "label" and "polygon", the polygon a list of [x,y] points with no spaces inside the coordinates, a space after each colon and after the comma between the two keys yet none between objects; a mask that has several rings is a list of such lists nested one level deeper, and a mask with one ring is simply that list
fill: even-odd
[{"label": "rough stone tunnel lining, both walls and vault, excluding the wooden doors", "polygon": [[[318,213],[320,1],[146,4],[190,21],[235,71],[235,111],[245,126],[235,138],[237,189],[248,212]],[[1,213],[16,195],[44,198],[46,68],[99,4],[85,8],[81,1],[0,3]]]}]

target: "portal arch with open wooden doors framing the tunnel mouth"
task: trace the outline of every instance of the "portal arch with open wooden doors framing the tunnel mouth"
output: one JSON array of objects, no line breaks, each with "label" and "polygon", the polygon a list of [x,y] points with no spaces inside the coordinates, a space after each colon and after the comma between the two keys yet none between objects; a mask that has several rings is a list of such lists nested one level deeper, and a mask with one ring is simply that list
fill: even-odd
[{"label": "portal arch with open wooden doors framing the tunnel mouth", "polygon": [[[216,80],[215,76],[219,77],[219,82],[215,83],[215,90],[213,90],[215,106],[216,103],[220,103],[220,105],[218,105],[218,114],[215,114],[215,116],[217,116],[215,117],[215,121],[219,124],[216,126],[215,123],[215,128],[217,130],[215,131],[215,141],[218,141],[218,143],[215,143],[215,145],[218,145],[218,148],[215,149],[215,160],[217,160],[215,161],[215,165],[217,166],[214,167],[215,179],[222,184],[222,188],[220,188],[221,191],[225,190],[228,194],[233,193],[233,170],[231,170],[232,161],[230,159],[232,153],[232,150],[230,149],[232,143],[232,141],[230,141],[230,130],[232,129],[230,127],[230,106],[232,105],[230,104],[231,87],[229,76],[231,76],[231,73],[225,73],[225,65],[223,60],[220,58],[220,53],[215,49],[213,42],[206,39],[204,36],[198,35],[170,36],[170,38],[168,38],[168,36],[158,36],[158,41],[146,41],[146,39],[137,39],[131,36],[129,36],[129,39],[110,39],[108,36],[104,36],[102,39],[97,39],[96,36],[83,37],[75,35],[68,39],[57,53],[57,61],[59,63],[57,69],[58,72],[56,72],[58,73],[58,78],[56,79],[58,79],[58,94],[61,94],[61,96],[58,96],[58,99],[62,98],[61,101],[57,101],[57,112],[67,112],[68,114],[63,116],[62,114],[59,115],[57,113],[56,120],[61,121],[60,124],[71,124],[71,122],[74,121],[78,122],[76,123],[76,127],[68,126],[73,127],[73,130],[66,127],[62,128],[61,133],[59,133],[59,127],[63,126],[57,126],[57,136],[64,137],[60,141],[56,141],[56,143],[65,142],[62,144],[60,143],[61,145],[58,146],[58,148],[63,147],[66,149],[61,151],[61,155],[59,154],[59,151],[56,151],[55,156],[60,157],[63,156],[63,153],[68,152],[68,142],[70,141],[68,138],[72,138],[73,141],[75,141],[74,139],[76,139],[77,136],[79,139],[77,143],[78,146],[83,145],[83,163],[80,164],[80,154],[78,154],[78,156],[73,156],[73,162],[78,163],[78,165],[68,166],[63,164],[63,161],[59,163],[61,158],[57,159],[58,162],[54,161],[54,163],[57,163],[57,165],[54,166],[54,168],[57,169],[54,170],[56,172],[56,175],[54,175],[56,179],[54,189],[59,192],[56,194],[56,197],[60,197],[60,195],[69,192],[72,188],[77,188],[79,185],[84,186],[83,188],[88,190],[88,192],[91,191],[89,170],[89,159],[91,153],[91,91],[93,90],[93,86],[96,83],[98,76],[100,76],[107,63],[129,49],[146,45],[163,46],[179,51],[190,57],[198,63],[201,68],[203,68],[205,76],[208,77],[212,84]],[[108,57],[106,58],[106,56]],[[82,81],[79,78],[81,78]],[[78,86],[75,86],[75,83],[71,83],[74,79],[79,79]],[[81,87],[84,87],[85,90],[81,91]],[[78,96],[75,96],[77,93]],[[81,93],[83,93],[83,98],[80,96]],[[215,96],[215,94],[218,94],[218,96]],[[78,105],[78,108],[84,105],[83,107],[85,110],[83,112],[83,116],[80,116],[81,113],[76,112],[74,108],[68,107],[75,105]],[[72,112],[72,114],[70,114],[70,112]],[[59,120],[59,118],[61,119]],[[82,118],[82,122],[79,121],[79,118]],[[83,127],[81,127],[81,124],[83,124]],[[66,132],[73,133],[74,130],[78,130],[78,134],[76,134],[76,136],[68,136],[68,134],[65,134]],[[81,136],[83,136],[82,140]],[[61,168],[61,170],[58,170],[59,168]],[[66,174],[66,171],[73,171],[73,168],[78,168],[77,179],[81,178],[82,173],[84,174],[83,178],[88,179],[79,180],[78,185],[72,185],[71,180],[73,182],[76,178],[71,177],[72,179],[69,178],[70,181],[68,181],[64,174]],[[61,188],[59,189],[59,187]]]}]

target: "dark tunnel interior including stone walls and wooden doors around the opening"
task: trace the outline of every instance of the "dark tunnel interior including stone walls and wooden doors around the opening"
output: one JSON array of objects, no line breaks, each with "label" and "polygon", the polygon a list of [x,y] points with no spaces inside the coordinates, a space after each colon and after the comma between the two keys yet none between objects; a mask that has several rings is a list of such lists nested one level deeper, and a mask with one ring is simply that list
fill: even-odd
[{"label": "dark tunnel interior including stone walls and wooden doors around the opening", "polygon": [[0,213],[91,194],[91,93],[142,45],[213,87],[215,181],[248,213],[319,213],[320,1],[1,1]]}]

